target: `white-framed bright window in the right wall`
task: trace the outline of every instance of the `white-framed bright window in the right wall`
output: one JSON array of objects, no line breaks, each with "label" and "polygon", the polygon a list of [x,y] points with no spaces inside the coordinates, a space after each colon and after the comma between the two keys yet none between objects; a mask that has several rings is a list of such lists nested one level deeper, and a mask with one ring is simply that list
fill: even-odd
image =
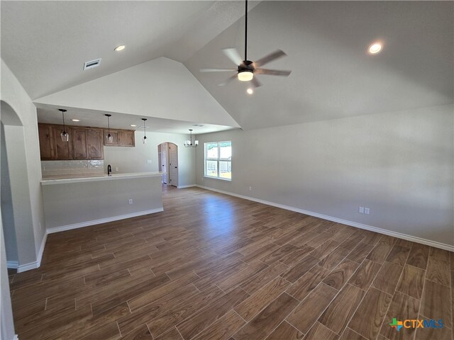
[{"label": "white-framed bright window in the right wall", "polygon": [[232,142],[205,143],[205,176],[232,179]]}]

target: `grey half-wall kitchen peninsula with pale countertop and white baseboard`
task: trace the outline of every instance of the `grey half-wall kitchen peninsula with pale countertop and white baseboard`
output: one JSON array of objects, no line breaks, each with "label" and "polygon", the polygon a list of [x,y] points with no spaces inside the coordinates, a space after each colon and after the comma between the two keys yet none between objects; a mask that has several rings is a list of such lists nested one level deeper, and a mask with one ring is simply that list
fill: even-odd
[{"label": "grey half-wall kitchen peninsula with pale countertop and white baseboard", "polygon": [[162,172],[41,181],[48,232],[162,211]]}]

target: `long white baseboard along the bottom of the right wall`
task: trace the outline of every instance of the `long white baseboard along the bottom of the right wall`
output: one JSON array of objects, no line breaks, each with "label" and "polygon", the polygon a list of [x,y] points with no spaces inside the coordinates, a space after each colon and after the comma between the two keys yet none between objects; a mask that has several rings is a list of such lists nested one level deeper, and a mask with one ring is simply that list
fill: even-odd
[{"label": "long white baseboard along the bottom of the right wall", "polygon": [[231,192],[228,192],[228,191],[218,190],[218,189],[215,189],[215,188],[209,188],[208,186],[199,186],[197,184],[196,187],[202,188],[202,189],[206,189],[206,190],[209,190],[209,191],[216,191],[216,193],[224,193],[224,194],[229,195],[229,196],[235,196],[235,197],[238,197],[238,198],[243,198],[245,200],[252,200],[253,202],[262,203],[262,204],[265,204],[265,205],[271,205],[272,207],[276,207],[276,208],[282,208],[282,209],[285,209],[285,210],[299,212],[299,213],[304,214],[304,215],[310,215],[310,216],[314,216],[314,217],[319,217],[319,218],[321,218],[323,220],[337,222],[337,223],[341,223],[343,225],[350,225],[351,227],[357,227],[357,228],[360,228],[360,229],[370,230],[371,232],[378,232],[380,234],[385,234],[385,235],[389,235],[389,236],[392,236],[392,237],[397,237],[398,239],[406,239],[407,241],[421,243],[421,244],[426,244],[428,246],[434,246],[436,248],[445,249],[445,250],[448,250],[448,251],[454,251],[454,246],[451,246],[450,244],[444,244],[444,243],[441,243],[441,242],[435,242],[435,241],[431,241],[429,239],[422,239],[421,237],[411,236],[411,235],[408,235],[408,234],[401,234],[400,232],[392,232],[392,231],[387,230],[387,229],[382,229],[382,228],[379,228],[379,227],[373,227],[372,225],[364,225],[364,224],[358,223],[358,222],[353,222],[353,221],[349,221],[349,220],[343,220],[341,218],[337,218],[337,217],[333,217],[333,216],[329,216],[329,215],[319,214],[318,212],[312,212],[312,211],[308,211],[308,210],[303,210],[303,209],[299,209],[299,208],[290,207],[289,205],[282,205],[282,204],[279,204],[279,203],[269,202],[267,200],[260,200],[259,198],[253,198],[253,197],[249,197],[249,196],[240,195],[238,193],[231,193]]}]

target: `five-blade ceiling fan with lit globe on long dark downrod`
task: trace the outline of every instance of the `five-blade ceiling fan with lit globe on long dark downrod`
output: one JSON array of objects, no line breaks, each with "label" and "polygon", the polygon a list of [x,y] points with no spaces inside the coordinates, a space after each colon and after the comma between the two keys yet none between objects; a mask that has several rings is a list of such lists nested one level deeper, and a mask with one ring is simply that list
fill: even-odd
[{"label": "five-blade ceiling fan with lit globe on long dark downrod", "polygon": [[287,77],[292,71],[284,71],[277,69],[262,69],[261,67],[273,60],[276,60],[280,57],[286,56],[285,52],[282,50],[276,50],[275,52],[266,55],[265,57],[252,62],[248,60],[248,0],[245,0],[246,3],[246,14],[245,14],[245,32],[244,32],[244,60],[241,59],[240,54],[236,48],[226,48],[222,52],[230,59],[234,64],[237,65],[236,69],[200,69],[200,72],[231,72],[236,71],[237,74],[234,74],[232,77],[226,79],[218,86],[224,86],[230,81],[238,77],[240,81],[251,81],[253,86],[260,86],[260,82],[254,77],[254,74],[268,74],[271,76],[285,76]]}]

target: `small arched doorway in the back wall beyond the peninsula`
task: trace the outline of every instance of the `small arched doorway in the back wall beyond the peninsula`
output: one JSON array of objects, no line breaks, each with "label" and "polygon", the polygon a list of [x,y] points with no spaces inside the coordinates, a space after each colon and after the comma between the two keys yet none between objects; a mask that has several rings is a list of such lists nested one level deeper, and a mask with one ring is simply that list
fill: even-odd
[{"label": "small arched doorway in the back wall beyond the peninsula", "polygon": [[159,169],[162,171],[162,183],[178,188],[178,145],[164,142],[157,146]]}]

